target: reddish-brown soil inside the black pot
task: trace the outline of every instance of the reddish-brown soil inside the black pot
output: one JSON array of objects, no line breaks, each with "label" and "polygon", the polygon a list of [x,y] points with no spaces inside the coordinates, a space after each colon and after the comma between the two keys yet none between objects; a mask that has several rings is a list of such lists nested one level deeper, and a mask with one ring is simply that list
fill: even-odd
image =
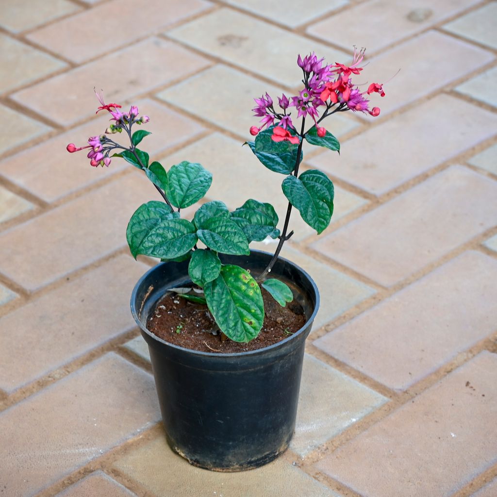
[{"label": "reddish-brown soil inside the black pot", "polygon": [[216,330],[217,326],[207,306],[182,299],[176,294],[167,294],[159,301],[147,328],[180,347],[202,352],[234,353],[267,347],[288,338],[304,326],[306,317],[302,306],[296,301],[281,307],[264,289],[262,298],[264,324],[258,336],[248,343],[234,342],[220,331],[217,335],[209,332]]}]

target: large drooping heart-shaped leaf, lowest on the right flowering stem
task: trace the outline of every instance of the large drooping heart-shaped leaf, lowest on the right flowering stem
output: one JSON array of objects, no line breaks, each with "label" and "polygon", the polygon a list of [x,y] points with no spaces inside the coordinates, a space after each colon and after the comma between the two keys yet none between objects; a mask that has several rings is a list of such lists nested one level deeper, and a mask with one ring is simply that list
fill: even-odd
[{"label": "large drooping heart-shaped leaf, lowest on the right flowering stem", "polygon": [[333,214],[334,188],[330,178],[324,172],[311,169],[298,179],[286,177],[281,187],[286,198],[300,211],[302,219],[318,235],[322,233]]}]

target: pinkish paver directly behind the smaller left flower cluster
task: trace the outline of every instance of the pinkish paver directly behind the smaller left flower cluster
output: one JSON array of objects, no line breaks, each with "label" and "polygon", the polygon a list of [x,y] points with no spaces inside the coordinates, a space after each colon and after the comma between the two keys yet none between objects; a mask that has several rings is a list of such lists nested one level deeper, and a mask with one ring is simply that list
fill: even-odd
[{"label": "pinkish paver directly behind the smaller left flower cluster", "polygon": [[[141,128],[137,126],[137,129],[146,129],[152,133],[140,144],[151,157],[184,140],[193,138],[203,130],[191,119],[149,98],[133,103],[136,103],[142,114],[152,116],[149,123],[142,125]],[[94,98],[93,106],[96,108],[97,105],[97,100]],[[89,166],[84,152],[73,156],[67,152],[68,143],[83,146],[86,145],[85,142],[89,136],[105,131],[109,123],[108,115],[100,113],[99,116],[82,126],[0,162],[0,175],[29,190],[45,202],[53,202],[125,168],[132,167],[123,160],[115,159],[109,167],[95,168]],[[124,145],[129,142],[123,135],[118,135],[116,141]]]}]

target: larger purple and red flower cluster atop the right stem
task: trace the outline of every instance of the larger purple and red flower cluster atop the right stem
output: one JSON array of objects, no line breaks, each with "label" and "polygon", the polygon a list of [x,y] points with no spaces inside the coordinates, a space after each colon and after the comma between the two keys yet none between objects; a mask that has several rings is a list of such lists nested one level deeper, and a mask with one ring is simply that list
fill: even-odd
[{"label": "larger purple and red flower cluster atop the right stem", "polygon": [[[273,133],[272,139],[274,141],[290,141],[290,137],[293,135],[289,130],[297,131],[288,112],[290,107],[296,108],[299,118],[310,116],[320,137],[326,135],[326,129],[320,127],[319,123],[334,112],[352,110],[378,116],[380,114],[378,107],[369,110],[367,95],[377,92],[381,96],[385,96],[383,85],[371,83],[366,91],[361,91],[358,86],[352,83],[352,75],[358,75],[363,70],[359,65],[364,59],[364,51],[362,49],[357,52],[354,48],[354,57],[350,66],[339,63],[326,65],[324,59],[318,59],[314,52],[304,58],[299,55],[297,65],[304,73],[302,80],[304,88],[296,96],[288,98],[283,93],[281,97],[278,97],[281,111],[274,109],[273,100],[267,93],[260,98],[254,98],[257,106],[252,110],[256,117],[262,117],[262,119],[260,126],[250,128],[250,134],[255,136],[265,126],[269,127],[277,122],[278,127],[285,131],[285,134],[278,131],[278,133]],[[320,115],[321,110],[323,112]]]}]

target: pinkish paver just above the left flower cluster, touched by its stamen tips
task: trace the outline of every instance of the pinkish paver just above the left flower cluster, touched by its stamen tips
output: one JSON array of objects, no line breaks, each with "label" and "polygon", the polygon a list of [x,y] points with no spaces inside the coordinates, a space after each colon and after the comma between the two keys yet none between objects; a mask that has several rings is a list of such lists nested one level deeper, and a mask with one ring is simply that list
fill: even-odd
[{"label": "pinkish paver just above the left flower cluster, touched by its stamen tips", "polygon": [[[149,38],[18,91],[12,98],[68,126],[94,115],[94,87],[103,89],[107,101],[123,101],[206,66],[206,60],[184,48],[159,38]],[[129,78],[130,67],[140,76]],[[109,68],[112,78],[107,77]],[[67,88],[71,91],[66,91]]]}]

